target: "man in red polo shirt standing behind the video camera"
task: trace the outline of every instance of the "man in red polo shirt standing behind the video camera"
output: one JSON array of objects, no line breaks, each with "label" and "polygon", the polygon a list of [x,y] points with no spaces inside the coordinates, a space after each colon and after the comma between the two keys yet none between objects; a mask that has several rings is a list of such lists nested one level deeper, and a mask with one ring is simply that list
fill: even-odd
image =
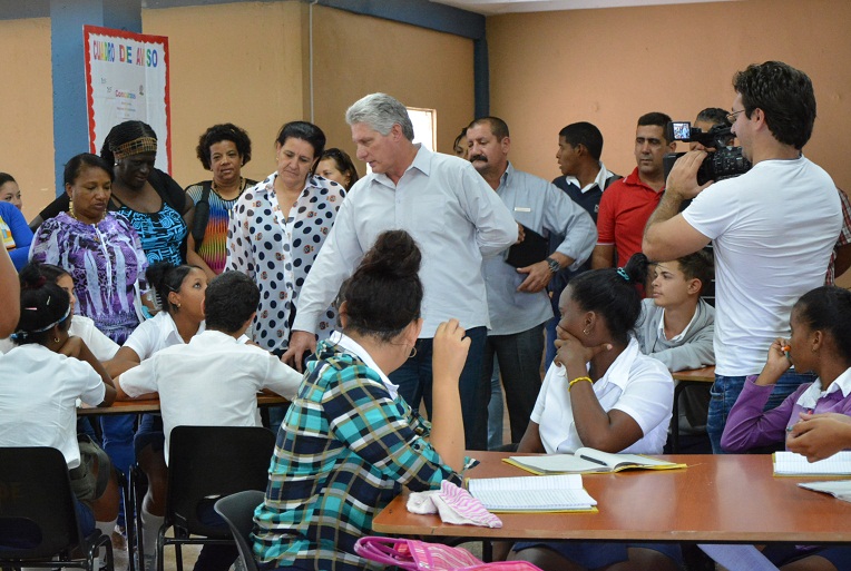
[{"label": "man in red polo shirt standing behind the video camera", "polygon": [[665,189],[662,158],[676,148],[675,141],[665,138],[665,126],[669,121],[671,117],[662,112],[638,118],[635,131],[638,166],[603,193],[597,215],[597,245],[591,254],[593,269],[623,266],[642,250],[644,227]]}]

